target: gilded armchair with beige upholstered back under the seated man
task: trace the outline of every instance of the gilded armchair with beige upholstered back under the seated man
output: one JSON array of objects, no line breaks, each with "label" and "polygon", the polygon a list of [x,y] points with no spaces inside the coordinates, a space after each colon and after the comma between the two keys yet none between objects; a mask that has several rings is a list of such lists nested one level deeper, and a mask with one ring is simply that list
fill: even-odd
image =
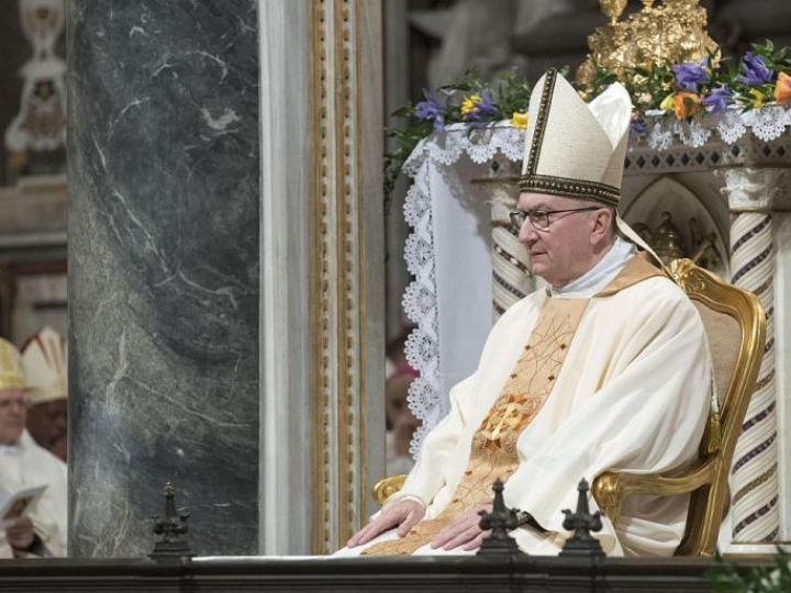
[{"label": "gilded armchair with beige upholstered back under the seated man", "polygon": [[[606,471],[593,480],[591,492],[613,524],[624,499],[632,494],[690,494],[687,527],[676,556],[713,556],[729,504],[727,478],[736,440],[761,363],[766,314],[753,293],[723,282],[690,259],[675,260],[669,271],[703,320],[720,410],[710,412],[700,454],[689,466],[648,475]],[[374,497],[383,504],[404,479],[385,478],[374,486]]]}]

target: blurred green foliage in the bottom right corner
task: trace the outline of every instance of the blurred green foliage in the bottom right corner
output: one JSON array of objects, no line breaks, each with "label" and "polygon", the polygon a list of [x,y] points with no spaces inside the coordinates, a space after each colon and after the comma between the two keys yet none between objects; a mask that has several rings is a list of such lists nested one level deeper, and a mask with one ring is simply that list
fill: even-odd
[{"label": "blurred green foliage in the bottom right corner", "polygon": [[717,566],[706,574],[715,593],[786,593],[791,591],[791,557],[778,549],[775,568],[755,567],[739,571],[726,566],[720,556]]}]

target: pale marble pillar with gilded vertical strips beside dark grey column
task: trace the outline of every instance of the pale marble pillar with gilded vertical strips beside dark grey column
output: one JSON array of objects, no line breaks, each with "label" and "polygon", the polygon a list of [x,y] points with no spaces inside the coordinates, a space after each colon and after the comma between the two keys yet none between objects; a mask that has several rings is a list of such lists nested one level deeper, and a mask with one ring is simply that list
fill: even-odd
[{"label": "pale marble pillar with gilded vertical strips beside dark grey column", "polygon": [[383,474],[381,11],[259,0],[268,555],[342,547]]}]

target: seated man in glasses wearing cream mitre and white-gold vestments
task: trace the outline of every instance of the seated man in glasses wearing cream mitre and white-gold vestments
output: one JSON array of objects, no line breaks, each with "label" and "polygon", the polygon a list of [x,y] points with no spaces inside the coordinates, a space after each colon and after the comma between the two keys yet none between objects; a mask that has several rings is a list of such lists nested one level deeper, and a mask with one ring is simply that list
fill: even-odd
[{"label": "seated man in glasses wearing cream mitre and white-gold vestments", "polygon": [[[498,478],[534,518],[512,532],[520,548],[554,555],[580,479],[697,456],[712,396],[703,324],[616,212],[631,115],[619,83],[589,104],[555,70],[536,85],[512,222],[548,287],[500,317],[403,489],[339,555],[470,553]],[[628,497],[597,537],[612,556],[671,556],[688,502]]]}]

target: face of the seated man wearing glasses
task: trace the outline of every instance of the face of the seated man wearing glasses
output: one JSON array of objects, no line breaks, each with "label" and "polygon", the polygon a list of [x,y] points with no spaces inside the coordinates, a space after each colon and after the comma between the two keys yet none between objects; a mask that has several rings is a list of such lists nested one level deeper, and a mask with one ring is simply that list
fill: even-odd
[{"label": "face of the seated man wearing glasses", "polygon": [[[531,210],[576,210],[595,206],[592,202],[524,192],[516,208]],[[536,228],[527,217],[520,228],[519,240],[530,254],[531,271],[555,288],[576,280],[591,268],[594,254],[592,234],[595,211],[564,212],[549,215],[549,228]]]}]

